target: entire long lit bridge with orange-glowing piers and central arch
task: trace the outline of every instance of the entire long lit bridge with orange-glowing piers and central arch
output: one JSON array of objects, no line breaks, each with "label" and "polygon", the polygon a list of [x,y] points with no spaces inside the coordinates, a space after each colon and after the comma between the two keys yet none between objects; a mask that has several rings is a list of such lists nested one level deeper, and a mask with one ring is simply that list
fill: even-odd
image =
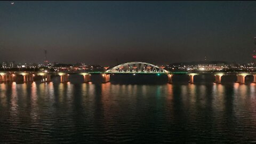
[{"label": "entire long lit bridge with orange-glowing piers and central arch", "polygon": [[167,82],[172,83],[173,75],[188,75],[189,76],[189,83],[194,83],[194,77],[196,75],[201,74],[212,74],[215,77],[215,83],[221,83],[221,78],[225,75],[236,75],[237,82],[240,84],[245,83],[245,77],[248,75],[253,75],[253,83],[256,83],[256,73],[220,73],[220,72],[170,72],[165,70],[164,68],[158,67],[151,63],[146,62],[126,62],[121,65],[115,66],[107,71],[98,71],[98,72],[74,72],[74,71],[67,71],[67,72],[21,72],[21,71],[9,71],[9,72],[0,72],[0,82],[15,82],[17,79],[16,77],[21,75],[23,76],[23,82],[33,82],[35,76],[41,76],[42,82],[51,82],[51,76],[57,75],[60,76],[60,82],[65,83],[69,81],[70,74],[78,74],[83,75],[83,81],[85,83],[91,81],[92,74],[100,74],[102,75],[102,82],[107,83],[110,81],[110,74],[165,74],[167,75]]}]

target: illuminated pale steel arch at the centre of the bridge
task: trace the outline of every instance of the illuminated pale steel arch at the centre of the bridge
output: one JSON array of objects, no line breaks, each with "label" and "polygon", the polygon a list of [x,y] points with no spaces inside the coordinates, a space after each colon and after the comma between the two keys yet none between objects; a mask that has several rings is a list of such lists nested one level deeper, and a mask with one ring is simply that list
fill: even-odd
[{"label": "illuminated pale steel arch at the centre of the bridge", "polygon": [[169,71],[146,62],[126,62],[115,66],[105,73],[111,74],[169,74]]}]

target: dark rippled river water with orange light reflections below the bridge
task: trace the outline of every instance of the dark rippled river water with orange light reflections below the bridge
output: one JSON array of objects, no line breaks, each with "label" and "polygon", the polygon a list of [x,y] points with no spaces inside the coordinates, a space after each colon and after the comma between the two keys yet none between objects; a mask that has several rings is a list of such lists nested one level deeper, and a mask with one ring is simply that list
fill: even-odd
[{"label": "dark rippled river water with orange light reflections below the bridge", "polygon": [[0,84],[7,142],[256,142],[256,85]]}]

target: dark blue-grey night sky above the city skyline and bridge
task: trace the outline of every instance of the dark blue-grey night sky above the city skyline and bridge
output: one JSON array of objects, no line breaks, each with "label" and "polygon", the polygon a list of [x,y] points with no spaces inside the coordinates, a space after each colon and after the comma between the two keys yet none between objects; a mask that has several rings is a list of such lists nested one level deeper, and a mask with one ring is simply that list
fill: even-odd
[{"label": "dark blue-grey night sky above the city skyline and bridge", "polygon": [[255,35],[255,1],[0,2],[0,61],[245,63]]}]

